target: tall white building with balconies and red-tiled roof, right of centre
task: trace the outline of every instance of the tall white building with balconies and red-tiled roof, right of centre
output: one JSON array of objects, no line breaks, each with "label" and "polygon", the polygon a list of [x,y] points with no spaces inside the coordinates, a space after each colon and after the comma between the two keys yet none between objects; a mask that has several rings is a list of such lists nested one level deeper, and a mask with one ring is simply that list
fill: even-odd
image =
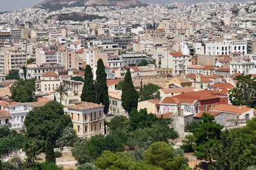
[{"label": "tall white building with balconies and red-tiled roof, right of centre", "polygon": [[182,52],[163,53],[160,61],[162,68],[173,68],[172,75],[179,75],[187,72],[187,65],[191,65],[190,56]]}]

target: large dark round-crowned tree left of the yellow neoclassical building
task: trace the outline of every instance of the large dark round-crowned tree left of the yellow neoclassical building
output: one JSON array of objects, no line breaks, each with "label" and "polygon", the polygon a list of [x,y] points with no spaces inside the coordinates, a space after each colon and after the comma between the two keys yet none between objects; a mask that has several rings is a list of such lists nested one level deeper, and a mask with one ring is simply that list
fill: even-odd
[{"label": "large dark round-crowned tree left of the yellow neoclassical building", "polygon": [[56,140],[61,137],[63,129],[73,127],[70,116],[64,114],[63,105],[54,100],[41,109],[28,112],[24,124],[28,137],[39,141],[38,148],[46,152],[46,159],[51,162],[54,162]]}]

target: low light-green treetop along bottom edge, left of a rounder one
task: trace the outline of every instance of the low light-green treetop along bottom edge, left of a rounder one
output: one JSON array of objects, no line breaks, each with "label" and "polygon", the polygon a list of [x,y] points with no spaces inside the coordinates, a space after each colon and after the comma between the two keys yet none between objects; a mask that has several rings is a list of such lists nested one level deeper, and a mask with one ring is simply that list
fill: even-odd
[{"label": "low light-green treetop along bottom edge, left of a rounder one", "polygon": [[160,169],[153,165],[143,164],[126,152],[113,153],[104,151],[95,161],[98,169]]}]

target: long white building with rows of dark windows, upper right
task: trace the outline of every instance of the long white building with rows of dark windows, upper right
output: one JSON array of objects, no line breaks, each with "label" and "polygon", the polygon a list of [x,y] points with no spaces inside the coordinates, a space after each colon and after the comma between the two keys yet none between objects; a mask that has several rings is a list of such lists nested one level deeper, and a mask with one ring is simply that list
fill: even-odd
[{"label": "long white building with rows of dark windows, upper right", "polygon": [[232,52],[247,54],[247,42],[225,40],[223,42],[205,43],[205,54],[207,55],[229,55]]}]

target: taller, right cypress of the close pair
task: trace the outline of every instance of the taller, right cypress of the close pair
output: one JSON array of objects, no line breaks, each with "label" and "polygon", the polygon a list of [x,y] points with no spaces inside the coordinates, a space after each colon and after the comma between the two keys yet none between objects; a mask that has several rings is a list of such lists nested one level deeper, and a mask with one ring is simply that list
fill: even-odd
[{"label": "taller, right cypress of the close pair", "polygon": [[107,73],[105,72],[105,66],[102,59],[99,59],[97,62],[95,88],[96,88],[96,102],[98,104],[105,105],[104,112],[105,114],[107,114],[108,108],[109,108]]}]

